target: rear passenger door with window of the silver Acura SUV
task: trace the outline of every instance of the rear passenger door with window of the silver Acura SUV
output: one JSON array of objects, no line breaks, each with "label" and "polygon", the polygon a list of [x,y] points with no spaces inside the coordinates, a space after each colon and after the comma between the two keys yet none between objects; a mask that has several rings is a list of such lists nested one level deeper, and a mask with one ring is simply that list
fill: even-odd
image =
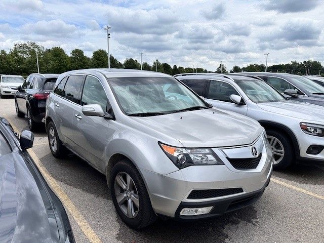
[{"label": "rear passenger door with window of the silver Acura SUV", "polygon": [[80,95],[84,75],[70,75],[62,79],[54,93],[55,113],[58,119],[58,127],[63,135],[63,142],[75,148],[72,140],[74,110],[80,106]]}]

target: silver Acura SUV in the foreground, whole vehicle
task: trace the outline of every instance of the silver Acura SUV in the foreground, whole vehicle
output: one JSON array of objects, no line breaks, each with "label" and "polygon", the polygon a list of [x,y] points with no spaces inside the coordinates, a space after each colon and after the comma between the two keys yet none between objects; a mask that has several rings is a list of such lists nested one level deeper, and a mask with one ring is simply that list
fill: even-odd
[{"label": "silver Acura SUV in the foreground, whole vehicle", "polygon": [[272,151],[257,121],[212,108],[170,75],[74,70],[55,87],[46,106],[52,154],[68,148],[105,174],[130,227],[157,215],[194,220],[237,210],[269,183]]}]

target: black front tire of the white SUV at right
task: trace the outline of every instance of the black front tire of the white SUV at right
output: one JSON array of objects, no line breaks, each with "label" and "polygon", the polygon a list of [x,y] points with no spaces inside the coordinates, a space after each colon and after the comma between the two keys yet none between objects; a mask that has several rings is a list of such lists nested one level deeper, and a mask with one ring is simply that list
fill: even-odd
[{"label": "black front tire of the white SUV at right", "polygon": [[[293,165],[295,154],[292,142],[290,141],[289,137],[286,134],[278,132],[276,130],[267,130],[266,132],[268,141],[273,151],[273,157],[276,161],[278,161],[278,164],[275,164],[273,166],[273,169],[284,170]],[[283,147],[284,150],[284,154],[283,156],[281,156],[281,159],[279,158],[280,154],[282,154],[282,149],[280,149],[280,147]]]}]

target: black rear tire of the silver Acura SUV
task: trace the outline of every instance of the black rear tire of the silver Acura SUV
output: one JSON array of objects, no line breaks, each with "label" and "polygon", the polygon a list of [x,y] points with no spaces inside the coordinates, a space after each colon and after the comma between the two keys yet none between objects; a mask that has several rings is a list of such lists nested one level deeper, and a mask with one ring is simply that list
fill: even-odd
[{"label": "black rear tire of the silver Acura SUV", "polygon": [[57,134],[56,127],[53,121],[50,121],[49,125],[47,126],[47,136],[49,141],[50,150],[54,157],[62,158],[66,154],[66,148],[62,144],[59,136]]}]

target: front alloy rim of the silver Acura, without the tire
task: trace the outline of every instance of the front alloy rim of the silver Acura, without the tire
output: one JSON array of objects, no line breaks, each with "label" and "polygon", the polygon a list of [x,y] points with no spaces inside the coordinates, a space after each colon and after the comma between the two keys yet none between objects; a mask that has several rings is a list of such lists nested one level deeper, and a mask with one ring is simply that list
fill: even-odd
[{"label": "front alloy rim of the silver Acura, without the tire", "polygon": [[135,218],[139,211],[138,191],[132,177],[119,172],[114,181],[115,196],[121,211],[129,218]]}]

